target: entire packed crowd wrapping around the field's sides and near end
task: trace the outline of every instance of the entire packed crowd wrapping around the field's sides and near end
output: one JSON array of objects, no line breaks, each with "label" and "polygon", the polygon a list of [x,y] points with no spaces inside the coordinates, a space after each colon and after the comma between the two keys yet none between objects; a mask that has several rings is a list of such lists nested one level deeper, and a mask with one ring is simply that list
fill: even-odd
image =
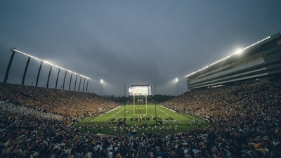
[{"label": "entire packed crowd wrapping around the field's sides and near end", "polygon": [[0,84],[0,98],[0,157],[281,157],[280,80],[198,89],[169,100],[164,107],[213,123],[170,135],[81,133],[72,119],[117,107],[86,93]]}]

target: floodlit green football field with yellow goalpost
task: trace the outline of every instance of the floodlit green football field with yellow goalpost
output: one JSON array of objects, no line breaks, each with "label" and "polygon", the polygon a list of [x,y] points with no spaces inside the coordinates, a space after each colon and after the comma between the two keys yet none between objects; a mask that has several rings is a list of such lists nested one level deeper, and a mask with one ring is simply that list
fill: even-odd
[{"label": "floodlit green football field with yellow goalpost", "polygon": [[[155,118],[155,105],[121,105],[105,114],[84,119],[75,126],[78,126],[80,131],[124,135],[132,132],[136,134],[148,132],[179,133],[209,125],[204,124],[202,119],[179,114],[160,105],[156,105],[156,115],[157,120]],[[122,126],[124,118],[126,118],[126,126]],[[192,120],[191,125],[190,120]]]}]

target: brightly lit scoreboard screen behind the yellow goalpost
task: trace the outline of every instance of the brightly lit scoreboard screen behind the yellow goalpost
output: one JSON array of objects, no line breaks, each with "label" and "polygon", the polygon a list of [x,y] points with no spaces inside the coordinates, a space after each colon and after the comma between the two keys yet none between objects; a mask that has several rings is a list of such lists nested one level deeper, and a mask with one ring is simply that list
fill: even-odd
[{"label": "brightly lit scoreboard screen behind the yellow goalpost", "polygon": [[129,96],[148,96],[152,95],[151,86],[132,85],[129,87]]}]

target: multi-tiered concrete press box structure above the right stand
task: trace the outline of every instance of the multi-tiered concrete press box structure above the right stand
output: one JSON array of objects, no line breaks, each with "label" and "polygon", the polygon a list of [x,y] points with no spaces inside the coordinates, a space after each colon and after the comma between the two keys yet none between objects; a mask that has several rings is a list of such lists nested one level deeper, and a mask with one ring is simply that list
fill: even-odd
[{"label": "multi-tiered concrete press box structure above the right stand", "polygon": [[281,76],[281,34],[273,34],[185,76],[188,91]]}]

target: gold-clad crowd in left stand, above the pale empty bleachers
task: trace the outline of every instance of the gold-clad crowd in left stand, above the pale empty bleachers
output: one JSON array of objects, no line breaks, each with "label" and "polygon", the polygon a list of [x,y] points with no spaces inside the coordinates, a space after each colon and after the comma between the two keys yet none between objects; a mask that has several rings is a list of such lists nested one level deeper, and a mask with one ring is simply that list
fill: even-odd
[{"label": "gold-clad crowd in left stand, above the pale empty bleachers", "polygon": [[93,93],[79,93],[16,84],[0,84],[0,88],[0,98],[2,100],[10,100],[16,105],[34,107],[37,110],[78,120],[104,113],[117,107],[117,103],[104,100]]}]

